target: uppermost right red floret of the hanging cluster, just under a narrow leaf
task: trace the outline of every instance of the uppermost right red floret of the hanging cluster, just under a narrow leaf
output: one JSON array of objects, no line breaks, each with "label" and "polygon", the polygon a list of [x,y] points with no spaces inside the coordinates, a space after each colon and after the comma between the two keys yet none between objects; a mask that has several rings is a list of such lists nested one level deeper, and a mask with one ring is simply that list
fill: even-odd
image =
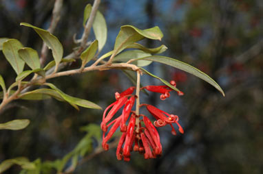
[{"label": "uppermost right red floret of the hanging cluster, just under a narrow leaf", "polygon": [[[176,82],[175,81],[172,80],[170,82],[170,84],[176,88]],[[151,92],[161,93],[162,94],[162,95],[160,95],[161,100],[165,100],[165,99],[169,98],[170,97],[169,92],[172,90],[169,86],[166,86],[166,85],[163,85],[163,86],[150,85],[150,86],[145,86],[145,87],[140,88],[140,89],[142,90],[144,88],[151,91]],[[184,95],[184,93],[182,91],[178,91],[178,95]]]}]

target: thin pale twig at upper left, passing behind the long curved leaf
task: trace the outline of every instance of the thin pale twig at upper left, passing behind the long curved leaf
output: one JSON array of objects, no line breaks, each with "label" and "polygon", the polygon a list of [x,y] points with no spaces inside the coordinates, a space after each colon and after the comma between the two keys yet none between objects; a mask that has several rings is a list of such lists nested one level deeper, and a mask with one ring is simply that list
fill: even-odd
[{"label": "thin pale twig at upper left, passing behind the long curved leaf", "polygon": [[[63,5],[63,0],[56,0],[54,3],[54,8],[52,11],[52,19],[50,23],[50,27],[48,28],[48,32],[53,33],[56,25],[59,22],[59,19],[61,18],[61,9]],[[45,61],[47,59],[47,54],[48,54],[48,47],[45,45],[45,42],[43,42],[42,49],[41,49],[41,58],[40,58],[40,63],[41,66],[45,64]]]}]

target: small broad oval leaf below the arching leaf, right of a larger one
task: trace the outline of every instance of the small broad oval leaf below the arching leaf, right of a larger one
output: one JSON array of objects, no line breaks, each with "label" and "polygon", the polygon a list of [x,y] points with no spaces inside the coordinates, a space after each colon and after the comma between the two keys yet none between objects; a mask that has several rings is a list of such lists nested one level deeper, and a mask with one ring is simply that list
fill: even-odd
[{"label": "small broad oval leaf below the arching leaf, right of a larger one", "polygon": [[31,69],[40,69],[39,55],[36,50],[28,47],[19,49],[19,56]]}]

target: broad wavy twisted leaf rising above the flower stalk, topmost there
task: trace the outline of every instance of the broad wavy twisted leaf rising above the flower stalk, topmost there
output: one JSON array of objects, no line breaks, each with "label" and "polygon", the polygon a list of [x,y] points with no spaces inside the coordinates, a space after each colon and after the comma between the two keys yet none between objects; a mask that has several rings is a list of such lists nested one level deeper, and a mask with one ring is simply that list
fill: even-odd
[{"label": "broad wavy twisted leaf rising above the flower stalk, topmost there", "polygon": [[138,29],[132,25],[124,25],[120,27],[120,32],[115,41],[114,54],[116,55],[123,49],[127,48],[134,42],[149,38],[154,40],[161,40],[163,34],[159,27],[152,27],[149,29]]}]

